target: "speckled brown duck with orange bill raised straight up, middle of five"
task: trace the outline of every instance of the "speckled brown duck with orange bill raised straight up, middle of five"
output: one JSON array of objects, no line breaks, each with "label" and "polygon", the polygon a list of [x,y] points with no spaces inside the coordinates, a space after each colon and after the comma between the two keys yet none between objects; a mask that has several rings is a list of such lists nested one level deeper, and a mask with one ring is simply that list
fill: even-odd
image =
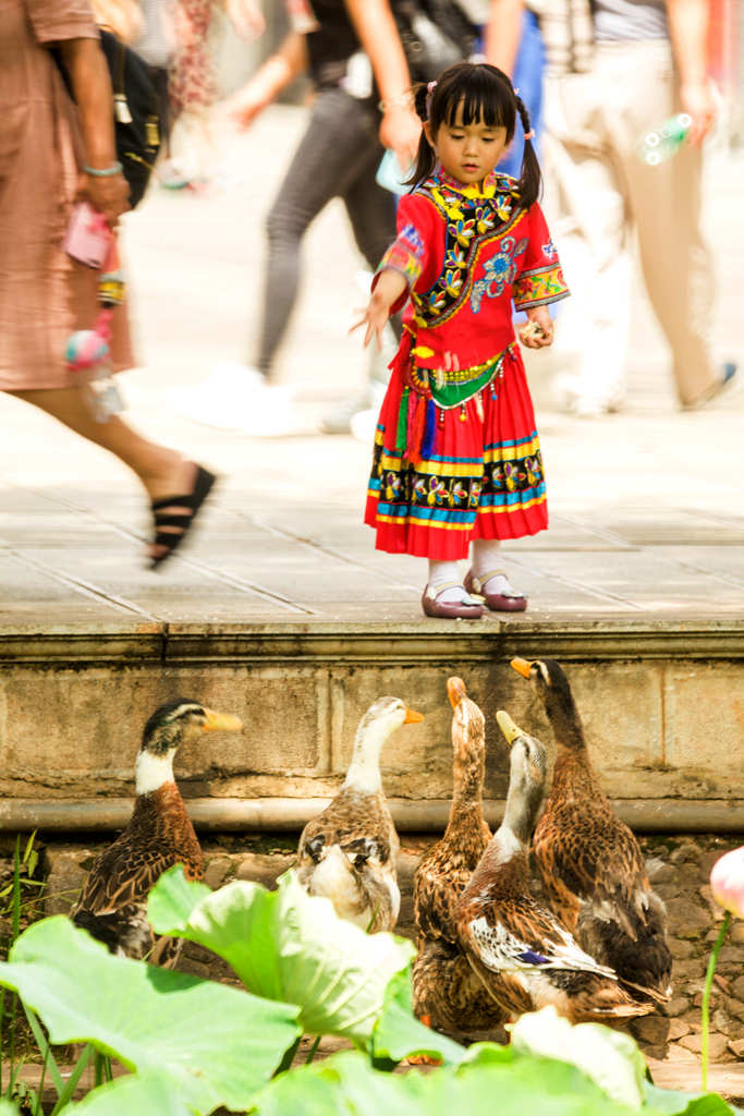
[{"label": "speckled brown duck with orange bill raised straight up, middle of five", "polygon": [[447,679],[453,709],[453,796],[444,836],[414,873],[414,922],[418,953],[412,981],[414,1011],[451,1036],[492,1031],[504,1012],[485,991],[457,942],[454,910],[486,845],[483,817],[485,720],[465,683]]}]

